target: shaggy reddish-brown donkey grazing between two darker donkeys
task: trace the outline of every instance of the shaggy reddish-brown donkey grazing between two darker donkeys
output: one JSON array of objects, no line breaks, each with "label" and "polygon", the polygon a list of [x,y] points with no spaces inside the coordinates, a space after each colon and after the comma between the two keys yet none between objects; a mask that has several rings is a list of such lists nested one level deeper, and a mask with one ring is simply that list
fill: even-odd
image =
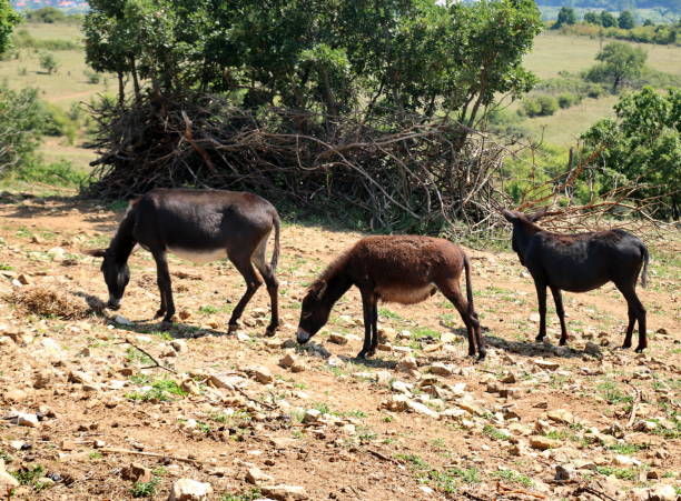
[{"label": "shaggy reddish-brown donkey grazing between two darker donkeys", "polygon": [[[466,295],[458,281],[466,273]],[[364,345],[357,354],[364,359],[378,344],[379,300],[415,304],[437,289],[454,304],[468,331],[468,355],[485,358],[477,314],[473,309],[471,264],[464,251],[454,243],[430,237],[367,237],[344,252],[309,287],[300,311],[297,340],[300,344],[326,324],[333,305],[352,287],[362,294]]]}]

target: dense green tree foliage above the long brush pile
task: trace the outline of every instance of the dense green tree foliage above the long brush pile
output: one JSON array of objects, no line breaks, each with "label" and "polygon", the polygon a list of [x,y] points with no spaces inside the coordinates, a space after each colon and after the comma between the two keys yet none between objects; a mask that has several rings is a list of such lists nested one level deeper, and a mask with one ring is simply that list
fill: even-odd
[{"label": "dense green tree foliage above the long brush pile", "polygon": [[88,62],[161,94],[227,91],[245,108],[329,116],[444,111],[470,126],[495,94],[532,87],[521,60],[541,29],[531,0],[90,4]]}]

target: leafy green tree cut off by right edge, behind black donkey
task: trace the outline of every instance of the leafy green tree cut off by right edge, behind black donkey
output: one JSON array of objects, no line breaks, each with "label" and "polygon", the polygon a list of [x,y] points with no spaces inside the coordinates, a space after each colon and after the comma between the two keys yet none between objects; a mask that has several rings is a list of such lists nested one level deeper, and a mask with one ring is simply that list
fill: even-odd
[{"label": "leafy green tree cut off by right edge, behind black donkey", "polygon": [[[650,87],[614,107],[616,118],[601,120],[582,139],[596,152],[603,191],[622,181],[639,182],[639,198],[665,196],[663,216],[681,217],[681,90],[667,94]],[[624,178],[624,179],[621,179]]]}]

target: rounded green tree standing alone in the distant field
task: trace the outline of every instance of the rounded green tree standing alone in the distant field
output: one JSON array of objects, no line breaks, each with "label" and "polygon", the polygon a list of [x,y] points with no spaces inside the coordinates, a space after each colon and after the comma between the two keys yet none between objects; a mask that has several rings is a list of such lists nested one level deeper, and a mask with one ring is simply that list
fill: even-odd
[{"label": "rounded green tree standing alone in the distant field", "polygon": [[639,47],[625,42],[610,42],[596,54],[602,61],[592,67],[585,74],[593,82],[611,82],[613,93],[620,87],[641,76],[648,54]]}]

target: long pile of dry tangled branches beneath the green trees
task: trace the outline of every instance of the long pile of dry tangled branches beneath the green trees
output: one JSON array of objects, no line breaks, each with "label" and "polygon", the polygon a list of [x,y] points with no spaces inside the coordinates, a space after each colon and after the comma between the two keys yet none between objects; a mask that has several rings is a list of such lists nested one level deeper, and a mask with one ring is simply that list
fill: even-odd
[{"label": "long pile of dry tangled branches beneath the green trees", "polygon": [[395,128],[282,109],[256,116],[215,96],[148,97],[93,117],[101,157],[89,196],[248,190],[374,229],[467,234],[497,224],[494,204],[506,200],[497,189],[506,149],[448,120]]}]

